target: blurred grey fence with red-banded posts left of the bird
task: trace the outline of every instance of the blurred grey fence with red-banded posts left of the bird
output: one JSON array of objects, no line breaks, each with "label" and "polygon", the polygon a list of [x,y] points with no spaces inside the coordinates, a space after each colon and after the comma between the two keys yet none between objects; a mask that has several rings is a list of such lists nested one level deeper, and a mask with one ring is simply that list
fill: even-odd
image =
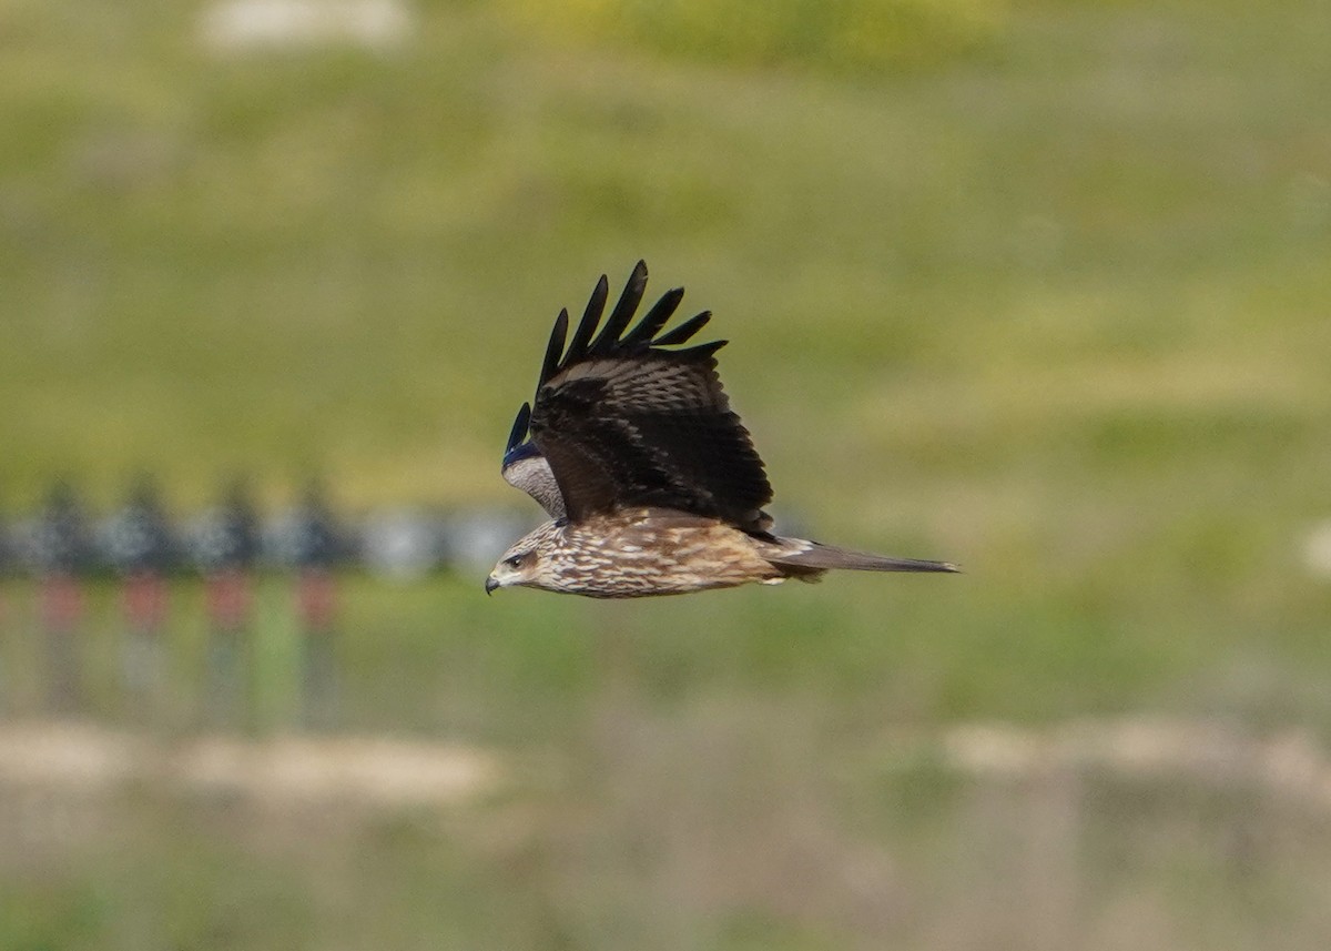
[{"label": "blurred grey fence with red-banded posts left of the bird", "polygon": [[[523,523],[494,510],[349,515],[314,483],[295,505],[269,513],[234,483],[217,505],[178,519],[146,478],[118,509],[93,513],[69,483],[56,483],[37,511],[0,519],[0,715],[112,714],[137,726],[252,729],[256,591],[278,585],[289,589],[282,623],[297,639],[298,725],[337,729],[343,577],[411,581],[457,570],[479,578]],[[202,597],[172,598],[181,583],[201,587]],[[95,662],[93,641],[105,639],[93,629],[106,618],[91,618],[89,601],[92,591],[105,601],[108,589],[118,615],[113,697],[102,687],[95,701],[89,671],[108,658]],[[170,677],[173,641],[200,627],[202,671],[186,678],[196,695],[184,699],[182,714]],[[15,649],[19,639],[27,650]],[[96,679],[108,678],[98,671]]]}]

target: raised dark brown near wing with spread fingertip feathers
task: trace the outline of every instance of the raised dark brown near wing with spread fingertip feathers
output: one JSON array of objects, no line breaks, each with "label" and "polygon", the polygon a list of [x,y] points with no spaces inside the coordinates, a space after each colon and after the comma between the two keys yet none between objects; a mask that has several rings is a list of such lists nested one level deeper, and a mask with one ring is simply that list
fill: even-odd
[{"label": "raised dark brown near wing with spread fingertip feathers", "polygon": [[[711,317],[660,333],[684,292],[668,290],[628,329],[647,265],[600,324],[604,277],[567,348],[568,313],[555,321],[531,412],[531,437],[574,521],[652,505],[761,527],[772,498],[748,430],[731,412],[715,353],[725,341],[680,349]],[[659,334],[659,336],[658,336]]]}]

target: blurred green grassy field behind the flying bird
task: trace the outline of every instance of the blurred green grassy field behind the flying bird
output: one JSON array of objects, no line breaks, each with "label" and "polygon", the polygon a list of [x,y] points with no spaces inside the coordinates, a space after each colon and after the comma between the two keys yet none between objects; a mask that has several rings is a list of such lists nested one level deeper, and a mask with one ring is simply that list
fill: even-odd
[{"label": "blurred green grassy field behind the flying bird", "polygon": [[[1291,804],[1227,761],[994,778],[938,738],[1331,743],[1331,5],[377,9],[370,43],[329,8],[248,43],[198,3],[0,4],[0,509],[142,470],[178,511],[234,472],[276,506],[314,470],[354,510],[534,517],[498,457],[550,321],[644,257],[732,341],[779,518],[968,574],[353,578],[347,729],[484,747],[502,786],[11,783],[0,947],[1327,946],[1324,761]],[[278,582],[260,614],[278,730]]]}]

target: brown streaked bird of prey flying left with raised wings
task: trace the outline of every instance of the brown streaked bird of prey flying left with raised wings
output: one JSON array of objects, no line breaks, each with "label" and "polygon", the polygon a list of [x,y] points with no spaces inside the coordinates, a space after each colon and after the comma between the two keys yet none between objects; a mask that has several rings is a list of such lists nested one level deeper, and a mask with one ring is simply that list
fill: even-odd
[{"label": "brown streaked bird of prey flying left with raised wings", "polygon": [[518,412],[503,457],[504,479],[551,521],[503,554],[486,593],[526,586],[638,598],[817,581],[835,567],[957,570],[775,534],[763,511],[772,486],[716,374],[725,341],[684,346],[709,312],[662,333],[683,288],[628,329],[646,286],[639,261],[602,325],[610,293],[602,276],[567,345],[568,312],[555,320],[535,401]]}]

